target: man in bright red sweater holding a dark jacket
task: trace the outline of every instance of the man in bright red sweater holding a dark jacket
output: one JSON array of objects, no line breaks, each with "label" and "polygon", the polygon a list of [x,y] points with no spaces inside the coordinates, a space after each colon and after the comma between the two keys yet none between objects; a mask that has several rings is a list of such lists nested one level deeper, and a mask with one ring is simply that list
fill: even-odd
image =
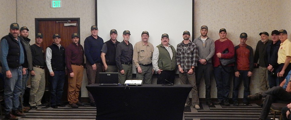
[{"label": "man in bright red sweater holding a dark jacket", "polygon": [[[214,42],[215,53],[213,56],[213,73],[217,87],[217,98],[216,105],[229,106],[228,95],[230,91],[230,76],[232,75],[234,63],[230,63],[226,66],[220,64],[219,58],[230,59],[234,57],[234,46],[233,43],[226,37],[226,29],[222,28],[219,30],[220,39]],[[224,50],[228,49],[228,53],[222,54]]]}]

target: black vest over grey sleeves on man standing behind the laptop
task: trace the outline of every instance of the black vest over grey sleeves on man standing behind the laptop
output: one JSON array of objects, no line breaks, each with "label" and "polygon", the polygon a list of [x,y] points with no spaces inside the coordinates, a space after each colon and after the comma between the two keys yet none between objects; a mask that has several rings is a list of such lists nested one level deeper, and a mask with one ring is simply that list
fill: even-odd
[{"label": "black vest over grey sleeves on man standing behind the laptop", "polygon": [[107,65],[116,65],[115,54],[116,54],[116,46],[120,43],[116,40],[114,44],[111,39],[105,42],[107,45],[107,53],[105,54],[105,60]]}]

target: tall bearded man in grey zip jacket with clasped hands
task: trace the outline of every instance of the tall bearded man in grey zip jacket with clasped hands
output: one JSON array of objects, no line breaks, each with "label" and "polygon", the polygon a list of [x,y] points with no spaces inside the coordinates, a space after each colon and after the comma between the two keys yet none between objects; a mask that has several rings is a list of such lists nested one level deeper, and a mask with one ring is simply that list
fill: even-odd
[{"label": "tall bearded man in grey zip jacket with clasped hands", "polygon": [[[199,91],[200,81],[202,79],[202,74],[204,75],[205,81],[205,98],[206,103],[209,106],[213,106],[211,101],[211,80],[213,76],[213,66],[212,66],[212,57],[215,52],[214,40],[207,36],[208,27],[203,25],[200,28],[201,36],[193,40],[193,43],[198,47],[198,61],[197,67],[195,70],[196,74],[196,86]],[[199,94],[201,95],[201,94]]]}]

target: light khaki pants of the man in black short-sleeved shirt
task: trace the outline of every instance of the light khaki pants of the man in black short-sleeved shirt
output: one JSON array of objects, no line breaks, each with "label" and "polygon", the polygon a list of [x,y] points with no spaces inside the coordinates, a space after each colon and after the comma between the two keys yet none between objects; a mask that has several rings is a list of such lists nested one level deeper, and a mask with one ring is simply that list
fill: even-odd
[{"label": "light khaki pants of the man in black short-sleeved shirt", "polygon": [[29,92],[29,105],[40,105],[45,92],[45,69],[33,67],[35,76],[31,76],[31,87]]}]

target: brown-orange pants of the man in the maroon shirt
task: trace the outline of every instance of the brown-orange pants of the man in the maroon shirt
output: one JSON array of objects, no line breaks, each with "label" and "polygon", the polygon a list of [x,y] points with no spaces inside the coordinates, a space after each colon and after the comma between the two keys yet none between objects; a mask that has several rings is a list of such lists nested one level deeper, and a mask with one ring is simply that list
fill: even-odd
[{"label": "brown-orange pants of the man in the maroon shirt", "polygon": [[77,103],[79,101],[79,92],[83,80],[84,67],[78,65],[72,65],[74,77],[70,77],[68,73],[68,101],[69,104]]}]

